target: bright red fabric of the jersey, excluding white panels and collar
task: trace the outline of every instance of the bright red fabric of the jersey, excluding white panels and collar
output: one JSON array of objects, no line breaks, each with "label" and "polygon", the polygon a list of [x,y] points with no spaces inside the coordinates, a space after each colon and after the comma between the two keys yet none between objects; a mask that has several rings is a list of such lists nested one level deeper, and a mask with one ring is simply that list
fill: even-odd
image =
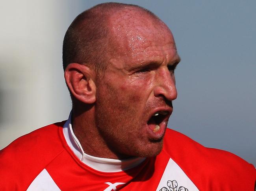
[{"label": "bright red fabric of the jersey, excluding white panels and collar", "polygon": [[[163,151],[127,171],[104,173],[83,164],[63,136],[64,122],[24,135],[0,151],[0,190],[26,190],[46,169],[61,190],[100,191],[105,182],[126,182],[117,190],[155,191],[172,158],[200,191],[254,191],[256,170],[232,153],[201,146],[167,129]],[[190,190],[189,190],[190,191]]]}]

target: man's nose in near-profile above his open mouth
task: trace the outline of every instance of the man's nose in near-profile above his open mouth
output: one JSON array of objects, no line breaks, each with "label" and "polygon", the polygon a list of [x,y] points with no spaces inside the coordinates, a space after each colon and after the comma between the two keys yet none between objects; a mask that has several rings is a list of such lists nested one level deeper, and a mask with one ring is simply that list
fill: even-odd
[{"label": "man's nose in near-profile above his open mouth", "polygon": [[169,101],[177,98],[174,72],[169,71],[168,69],[162,69],[156,75],[155,80],[154,96],[164,97]]}]

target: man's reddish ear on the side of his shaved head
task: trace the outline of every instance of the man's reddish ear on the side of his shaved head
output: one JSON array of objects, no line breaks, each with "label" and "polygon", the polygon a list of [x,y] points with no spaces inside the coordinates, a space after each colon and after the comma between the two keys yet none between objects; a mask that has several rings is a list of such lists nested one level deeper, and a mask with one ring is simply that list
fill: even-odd
[{"label": "man's reddish ear on the side of his shaved head", "polygon": [[72,95],[85,104],[96,100],[95,72],[83,64],[67,65],[64,77]]}]

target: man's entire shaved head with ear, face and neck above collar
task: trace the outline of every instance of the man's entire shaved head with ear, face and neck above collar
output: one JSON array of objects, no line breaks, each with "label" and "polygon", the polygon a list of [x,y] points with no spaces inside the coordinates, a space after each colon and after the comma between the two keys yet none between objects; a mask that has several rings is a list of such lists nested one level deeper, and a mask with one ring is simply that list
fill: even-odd
[{"label": "man's entire shaved head with ear, face and neck above collar", "polygon": [[147,9],[105,3],[78,15],[64,38],[63,68],[85,153],[158,155],[177,96],[178,62],[171,31]]}]

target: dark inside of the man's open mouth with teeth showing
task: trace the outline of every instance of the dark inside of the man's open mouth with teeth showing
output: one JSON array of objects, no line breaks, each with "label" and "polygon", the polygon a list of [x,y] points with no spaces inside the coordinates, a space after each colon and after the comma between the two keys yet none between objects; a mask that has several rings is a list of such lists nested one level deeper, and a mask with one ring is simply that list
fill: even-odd
[{"label": "dark inside of the man's open mouth with teeth showing", "polygon": [[168,111],[158,111],[154,113],[147,122],[148,127],[150,127],[154,133],[158,133],[163,126],[163,122],[168,120],[169,114]]}]

